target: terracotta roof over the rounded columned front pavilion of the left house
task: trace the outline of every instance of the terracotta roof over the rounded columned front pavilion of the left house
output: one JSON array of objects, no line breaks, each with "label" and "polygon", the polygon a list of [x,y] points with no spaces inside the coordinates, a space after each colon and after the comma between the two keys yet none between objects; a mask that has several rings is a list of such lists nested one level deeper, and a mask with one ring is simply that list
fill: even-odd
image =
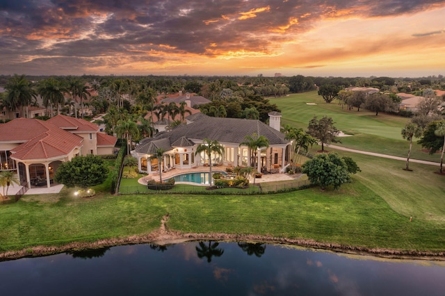
[{"label": "terracotta roof over the rounded columned front pavilion of the left house", "polygon": [[58,129],[53,124],[44,123],[48,128],[47,131],[12,149],[12,158],[19,160],[56,158],[66,156],[76,147],[81,147],[83,138],[79,135]]}]

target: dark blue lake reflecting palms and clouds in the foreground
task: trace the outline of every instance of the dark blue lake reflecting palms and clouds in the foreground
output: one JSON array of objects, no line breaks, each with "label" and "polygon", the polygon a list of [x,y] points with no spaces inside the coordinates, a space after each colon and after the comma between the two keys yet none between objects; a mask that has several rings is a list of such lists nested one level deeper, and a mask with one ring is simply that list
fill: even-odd
[{"label": "dark blue lake reflecting palms and clouds in the foreground", "polygon": [[445,262],[235,242],[0,262],[1,295],[444,295]]}]

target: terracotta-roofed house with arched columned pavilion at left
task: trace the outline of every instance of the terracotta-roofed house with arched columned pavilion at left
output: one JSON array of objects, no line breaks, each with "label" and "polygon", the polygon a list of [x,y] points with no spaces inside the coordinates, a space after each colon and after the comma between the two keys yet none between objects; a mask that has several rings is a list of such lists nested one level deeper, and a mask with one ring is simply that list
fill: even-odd
[{"label": "terracotta-roofed house with arched columned pavilion at left", "polygon": [[70,118],[17,118],[0,124],[0,170],[16,170],[20,183],[29,188],[50,187],[60,163],[90,152],[113,154],[117,138],[98,133],[99,127],[86,120]]}]

